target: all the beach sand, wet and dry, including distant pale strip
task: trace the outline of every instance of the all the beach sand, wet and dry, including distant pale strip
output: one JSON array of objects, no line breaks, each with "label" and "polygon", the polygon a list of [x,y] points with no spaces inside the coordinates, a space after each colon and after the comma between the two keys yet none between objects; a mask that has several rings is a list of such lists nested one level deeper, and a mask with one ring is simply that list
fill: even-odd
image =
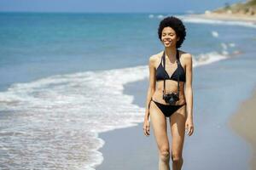
[{"label": "all the beach sand, wet and dry, including distant pale strip", "polygon": [[[217,15],[197,14],[196,16],[214,20],[255,21],[256,23],[256,19],[248,20],[245,17],[235,16],[231,19],[227,14],[218,14],[218,18]],[[252,159],[251,167],[256,167],[256,164],[253,163],[256,144],[256,132],[253,131],[253,127],[256,126],[256,123],[253,123],[256,122],[256,117],[253,115],[253,104],[256,104],[256,89],[253,98],[245,102],[240,103],[240,99],[230,99],[234,92],[239,94],[242,93],[241,89],[247,88],[242,82],[237,82],[237,77],[247,77],[247,71],[244,72],[247,69],[251,69],[252,74],[256,72],[253,54],[254,52],[247,54],[251,56],[249,58],[228,59],[194,70],[196,131],[193,136],[185,137],[183,169],[248,169],[249,159]],[[222,76],[223,71],[225,72],[224,76]],[[220,83],[212,80],[221,80],[226,85],[225,87],[229,88],[223,88]],[[207,82],[211,82],[211,84]],[[230,86],[230,84],[234,84],[234,86]],[[148,79],[126,84],[124,94],[134,95],[133,103],[144,107],[147,87]],[[211,89],[214,90],[214,93],[211,93]],[[218,99],[219,94],[223,94],[223,99]],[[246,95],[241,96],[244,98]],[[238,101],[239,103],[237,103]],[[207,109],[199,105],[201,103],[208,105]],[[218,107],[211,105],[212,103],[218,103]],[[241,105],[241,108],[236,113],[237,104]],[[229,125],[226,122],[229,122]],[[99,150],[104,156],[104,161],[96,167],[96,170],[157,169],[158,150],[153,129],[151,128],[149,137],[143,136],[143,123],[139,123],[135,127],[100,133],[99,137],[106,143]],[[251,145],[254,150],[253,156],[249,156],[249,153],[252,153]]]}]

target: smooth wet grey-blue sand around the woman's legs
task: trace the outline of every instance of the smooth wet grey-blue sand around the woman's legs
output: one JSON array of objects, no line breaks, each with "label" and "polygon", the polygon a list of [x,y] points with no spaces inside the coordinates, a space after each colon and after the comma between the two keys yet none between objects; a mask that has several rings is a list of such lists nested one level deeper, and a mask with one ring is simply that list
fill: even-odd
[{"label": "smooth wet grey-blue sand around the woman's legs", "polygon": [[[230,67],[231,65],[237,66],[241,62],[241,58],[230,60],[195,68],[195,87],[201,84],[202,89],[195,88],[195,133],[191,137],[185,136],[183,169],[213,170],[219,167],[222,167],[221,169],[249,169],[250,146],[240,136],[234,135],[235,129],[230,130],[227,127],[230,116],[236,111],[236,106],[230,105],[230,103],[238,105],[243,99],[246,99],[246,96],[230,99],[233,91],[239,91],[243,87],[243,83],[238,83],[233,88],[222,91],[224,87],[220,84],[236,83],[235,78],[225,80],[225,76],[231,77],[232,72],[236,72],[238,77],[244,74],[242,73],[243,66],[236,67],[236,69]],[[253,61],[255,60],[253,59]],[[247,65],[247,68],[253,69],[253,65],[249,67]],[[225,70],[227,75],[221,76],[219,74],[221,70]],[[211,77],[207,77],[207,75],[219,77],[222,83],[208,84]],[[203,82],[198,77],[201,77]],[[124,93],[134,95],[133,102],[143,107],[147,84],[147,80],[127,84]],[[207,94],[207,88],[215,90],[216,94]],[[218,88],[222,90],[219,91]],[[224,95],[222,99],[218,99],[218,94]],[[210,103],[207,102],[209,98],[212,98]],[[202,109],[203,106],[200,104],[209,105],[208,111]],[[225,116],[219,116],[216,112]],[[170,130],[168,129],[168,131],[169,139],[172,139]],[[151,135],[143,136],[143,123],[139,123],[136,127],[100,133],[99,137],[106,143],[100,149],[104,161],[96,169],[119,169],[120,167],[122,169],[157,169],[158,150],[153,135],[151,127]],[[224,159],[225,161],[223,161]]]}]

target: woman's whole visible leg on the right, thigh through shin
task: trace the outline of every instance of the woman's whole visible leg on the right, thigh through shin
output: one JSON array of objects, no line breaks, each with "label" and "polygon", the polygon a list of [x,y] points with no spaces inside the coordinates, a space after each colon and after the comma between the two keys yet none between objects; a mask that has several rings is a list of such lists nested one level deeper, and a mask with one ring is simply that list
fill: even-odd
[{"label": "woman's whole visible leg on the right, thigh through shin", "polygon": [[172,170],[181,170],[183,166],[183,142],[186,122],[185,105],[170,117],[172,133]]}]

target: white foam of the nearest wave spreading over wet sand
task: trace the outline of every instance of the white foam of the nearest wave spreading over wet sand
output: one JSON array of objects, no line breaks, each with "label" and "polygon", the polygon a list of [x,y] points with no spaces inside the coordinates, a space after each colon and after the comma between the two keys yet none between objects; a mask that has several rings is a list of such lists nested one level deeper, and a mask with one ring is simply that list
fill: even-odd
[{"label": "white foam of the nearest wave spreading over wet sand", "polygon": [[[228,56],[212,52],[193,57],[193,66],[199,66]],[[44,160],[63,169],[93,170],[103,160],[98,149],[104,141],[98,133],[143,122],[144,108],[133,105],[133,96],[123,90],[125,83],[144,78],[148,78],[147,65],[15,83],[0,93],[0,111],[15,115],[0,120],[7,127],[4,133],[14,134],[10,139],[0,134],[0,144],[24,168],[39,168]],[[22,141],[32,148],[28,150]],[[32,161],[27,164],[20,157]]]}]

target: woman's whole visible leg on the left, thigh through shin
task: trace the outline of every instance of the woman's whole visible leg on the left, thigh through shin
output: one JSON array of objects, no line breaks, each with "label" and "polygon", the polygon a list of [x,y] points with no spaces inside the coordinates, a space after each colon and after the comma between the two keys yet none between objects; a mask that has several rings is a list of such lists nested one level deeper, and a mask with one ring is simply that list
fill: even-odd
[{"label": "woman's whole visible leg on the left, thigh through shin", "polygon": [[166,116],[164,116],[153,101],[151,102],[149,108],[150,122],[152,122],[154,138],[159,150],[159,170],[170,170],[170,147],[166,132]]}]

